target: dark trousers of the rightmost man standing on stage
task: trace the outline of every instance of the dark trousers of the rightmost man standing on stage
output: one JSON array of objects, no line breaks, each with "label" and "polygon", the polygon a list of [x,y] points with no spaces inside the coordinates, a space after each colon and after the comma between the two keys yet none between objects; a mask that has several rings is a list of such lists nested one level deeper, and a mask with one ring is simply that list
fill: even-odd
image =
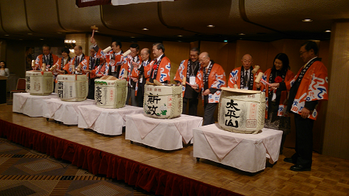
[{"label": "dark trousers of the rightmost man standing on stage", "polygon": [[303,119],[301,115],[295,114],[296,128],[296,153],[292,160],[296,165],[311,167],[313,156],[313,124],[314,120]]}]

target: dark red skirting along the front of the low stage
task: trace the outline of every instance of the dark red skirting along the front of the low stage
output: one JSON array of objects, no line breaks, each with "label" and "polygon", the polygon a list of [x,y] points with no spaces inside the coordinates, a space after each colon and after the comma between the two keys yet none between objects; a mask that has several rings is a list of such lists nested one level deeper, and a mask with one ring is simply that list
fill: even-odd
[{"label": "dark red skirting along the front of the low stage", "polygon": [[154,192],[156,195],[239,195],[1,119],[0,137],[7,137],[10,141],[54,158],[68,160],[92,174],[105,174],[107,178],[123,180],[131,186]]}]

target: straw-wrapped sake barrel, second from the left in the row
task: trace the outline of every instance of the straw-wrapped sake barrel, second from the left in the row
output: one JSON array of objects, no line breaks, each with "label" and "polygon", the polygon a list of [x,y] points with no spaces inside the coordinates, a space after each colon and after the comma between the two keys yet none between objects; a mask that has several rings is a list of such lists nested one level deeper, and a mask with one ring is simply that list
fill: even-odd
[{"label": "straw-wrapped sake barrel, second from the left in the row", "polygon": [[87,75],[57,75],[58,97],[64,101],[83,101],[89,93]]}]

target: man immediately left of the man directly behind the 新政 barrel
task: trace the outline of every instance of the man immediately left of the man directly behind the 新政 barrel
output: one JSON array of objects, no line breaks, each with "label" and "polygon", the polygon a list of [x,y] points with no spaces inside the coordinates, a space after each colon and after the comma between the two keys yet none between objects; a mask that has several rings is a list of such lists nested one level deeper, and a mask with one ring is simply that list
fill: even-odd
[{"label": "man immediately left of the man directly behind the \u65b0\u653f barrel", "polygon": [[143,48],[140,51],[140,56],[142,58],[142,63],[138,67],[135,67],[132,71],[131,79],[137,82],[137,102],[138,107],[143,107],[144,99],[144,84],[146,77],[144,77],[144,67],[147,67],[151,61],[149,48]]}]

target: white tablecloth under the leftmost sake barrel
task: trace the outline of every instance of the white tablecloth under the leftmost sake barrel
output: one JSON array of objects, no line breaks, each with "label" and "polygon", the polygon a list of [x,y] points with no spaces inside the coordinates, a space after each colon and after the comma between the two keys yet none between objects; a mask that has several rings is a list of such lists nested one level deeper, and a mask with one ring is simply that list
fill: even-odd
[{"label": "white tablecloth under the leftmost sake barrel", "polygon": [[43,116],[43,100],[58,98],[52,93],[48,96],[31,96],[30,93],[13,93],[12,111],[31,117]]}]

